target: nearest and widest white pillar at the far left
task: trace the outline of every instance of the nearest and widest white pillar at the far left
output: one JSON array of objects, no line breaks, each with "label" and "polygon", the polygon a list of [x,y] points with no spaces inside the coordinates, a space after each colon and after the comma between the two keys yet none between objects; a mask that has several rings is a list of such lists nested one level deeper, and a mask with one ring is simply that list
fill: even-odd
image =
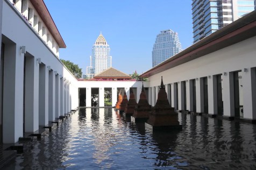
[{"label": "nearest and widest white pillar at the far left", "polygon": [[[1,26],[0,26],[1,27]],[[15,44],[5,44],[3,81],[3,143],[23,136],[24,54]],[[16,83],[20,82],[20,83]]]}]

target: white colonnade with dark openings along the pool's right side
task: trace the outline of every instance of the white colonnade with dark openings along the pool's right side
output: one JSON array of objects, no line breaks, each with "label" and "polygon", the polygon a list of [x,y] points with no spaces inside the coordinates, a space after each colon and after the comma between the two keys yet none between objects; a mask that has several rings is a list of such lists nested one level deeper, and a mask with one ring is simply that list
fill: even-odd
[{"label": "white colonnade with dark openings along the pool's right side", "polygon": [[[166,80],[172,79],[171,76]],[[219,72],[216,75],[163,82],[169,103],[179,111],[223,115],[229,119],[256,119],[256,68]],[[159,86],[149,89],[149,103],[157,101]]]}]

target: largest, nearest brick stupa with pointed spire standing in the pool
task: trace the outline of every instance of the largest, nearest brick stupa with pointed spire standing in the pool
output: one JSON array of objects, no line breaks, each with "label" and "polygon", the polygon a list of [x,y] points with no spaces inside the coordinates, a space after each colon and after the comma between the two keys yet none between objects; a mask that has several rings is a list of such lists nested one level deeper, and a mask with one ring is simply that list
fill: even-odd
[{"label": "largest, nearest brick stupa with pointed spire standing in the pool", "polygon": [[153,126],[153,130],[182,129],[182,125],[178,120],[178,113],[174,111],[174,108],[168,102],[162,79],[157,103],[152,107],[147,123]]}]

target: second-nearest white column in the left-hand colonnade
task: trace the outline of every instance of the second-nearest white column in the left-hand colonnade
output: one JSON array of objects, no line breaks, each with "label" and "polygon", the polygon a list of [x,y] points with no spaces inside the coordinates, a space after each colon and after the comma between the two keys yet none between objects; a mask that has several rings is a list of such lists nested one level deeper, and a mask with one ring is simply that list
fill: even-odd
[{"label": "second-nearest white column in the left-hand colonnade", "polygon": [[26,57],[25,68],[25,132],[39,129],[39,64],[37,58]]}]

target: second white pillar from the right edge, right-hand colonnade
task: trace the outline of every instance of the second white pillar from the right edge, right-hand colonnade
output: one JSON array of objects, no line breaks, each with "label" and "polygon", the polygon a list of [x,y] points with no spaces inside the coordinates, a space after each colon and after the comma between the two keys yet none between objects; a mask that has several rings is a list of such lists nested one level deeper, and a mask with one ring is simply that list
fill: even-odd
[{"label": "second white pillar from the right edge, right-hand colonnade", "polygon": [[232,117],[234,116],[233,72],[224,73],[222,79],[223,115],[227,117]]}]

